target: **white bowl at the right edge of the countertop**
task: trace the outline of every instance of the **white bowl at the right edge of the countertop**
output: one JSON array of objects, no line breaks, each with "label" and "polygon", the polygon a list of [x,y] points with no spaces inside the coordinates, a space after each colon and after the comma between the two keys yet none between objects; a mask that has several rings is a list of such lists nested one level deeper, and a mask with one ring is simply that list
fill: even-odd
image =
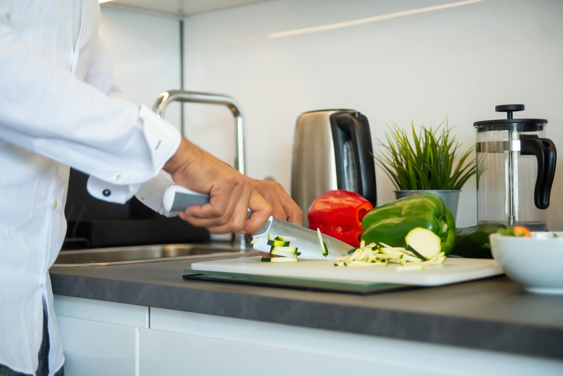
[{"label": "white bowl at the right edge of the countertop", "polygon": [[494,259],[504,274],[526,291],[563,294],[563,232],[532,232],[531,235],[531,238],[490,235]]}]

